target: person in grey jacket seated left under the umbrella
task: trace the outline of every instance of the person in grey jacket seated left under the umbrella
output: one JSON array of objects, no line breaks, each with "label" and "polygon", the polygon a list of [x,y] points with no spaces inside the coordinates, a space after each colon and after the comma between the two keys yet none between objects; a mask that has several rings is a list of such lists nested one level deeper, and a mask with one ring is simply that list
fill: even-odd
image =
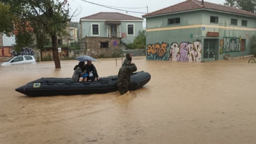
[{"label": "person in grey jacket seated left under the umbrella", "polygon": [[87,81],[88,74],[86,73],[86,69],[84,68],[85,62],[79,62],[78,65],[74,68],[74,74],[72,75],[72,81],[74,82],[82,82]]}]

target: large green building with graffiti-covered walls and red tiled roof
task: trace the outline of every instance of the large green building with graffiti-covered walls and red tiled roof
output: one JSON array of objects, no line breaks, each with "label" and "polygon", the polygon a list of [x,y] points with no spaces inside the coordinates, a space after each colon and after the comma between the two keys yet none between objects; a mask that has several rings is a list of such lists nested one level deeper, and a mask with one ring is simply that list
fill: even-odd
[{"label": "large green building with graffiti-covered walls and red tiled roof", "polygon": [[186,0],[143,17],[148,60],[201,62],[253,53],[256,14],[251,12]]}]

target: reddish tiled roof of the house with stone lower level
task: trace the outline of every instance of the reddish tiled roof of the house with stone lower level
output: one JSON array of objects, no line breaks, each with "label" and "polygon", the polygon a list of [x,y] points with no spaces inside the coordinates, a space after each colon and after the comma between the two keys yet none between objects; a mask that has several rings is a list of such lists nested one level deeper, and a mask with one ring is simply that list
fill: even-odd
[{"label": "reddish tiled roof of the house with stone lower level", "polygon": [[143,20],[143,18],[121,14],[119,12],[99,12],[94,15],[82,17],[86,20]]}]

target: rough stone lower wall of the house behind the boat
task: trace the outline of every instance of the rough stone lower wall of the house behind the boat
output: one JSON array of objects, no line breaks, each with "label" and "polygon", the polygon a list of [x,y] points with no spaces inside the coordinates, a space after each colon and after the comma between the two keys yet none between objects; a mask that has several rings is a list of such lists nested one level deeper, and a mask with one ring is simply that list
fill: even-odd
[{"label": "rough stone lower wall of the house behind the boat", "polygon": [[[116,47],[112,46],[114,40],[118,42]],[[120,40],[121,38],[84,37],[81,39],[80,48],[94,58],[112,57],[115,52],[119,53],[120,51]],[[108,42],[108,48],[101,48],[101,42]]]}]

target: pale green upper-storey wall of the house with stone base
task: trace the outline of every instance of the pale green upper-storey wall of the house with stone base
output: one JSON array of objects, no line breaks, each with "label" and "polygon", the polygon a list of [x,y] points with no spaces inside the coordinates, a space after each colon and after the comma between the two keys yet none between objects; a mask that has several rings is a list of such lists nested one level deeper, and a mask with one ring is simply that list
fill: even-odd
[{"label": "pale green upper-storey wall of the house with stone base", "polygon": [[[100,36],[92,35],[91,33],[91,23],[98,23],[100,25]],[[138,35],[139,31],[142,31],[142,21],[121,21],[121,25],[119,26],[120,35],[121,33],[127,33],[127,24],[134,24],[134,35],[127,35],[126,38],[122,40],[125,43],[132,43],[133,39]],[[82,29],[81,35],[82,38],[87,37],[108,37],[107,26],[105,21],[81,21]]]}]

